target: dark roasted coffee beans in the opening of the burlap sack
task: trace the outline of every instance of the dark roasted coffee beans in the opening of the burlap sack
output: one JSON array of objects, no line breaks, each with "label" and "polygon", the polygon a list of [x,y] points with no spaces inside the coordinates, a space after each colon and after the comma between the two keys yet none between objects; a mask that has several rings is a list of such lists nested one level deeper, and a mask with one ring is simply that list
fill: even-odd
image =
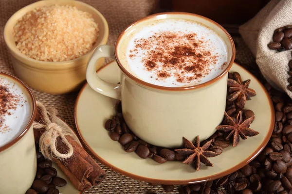
[{"label": "dark roasted coffee beans in the opening of the burlap sack", "polygon": [[[269,49],[277,49],[278,51],[290,50],[292,49],[292,25],[277,28],[274,31],[273,41],[268,44]],[[292,60],[289,62],[288,71],[290,78],[288,78],[289,85],[287,89],[292,91]]]}]

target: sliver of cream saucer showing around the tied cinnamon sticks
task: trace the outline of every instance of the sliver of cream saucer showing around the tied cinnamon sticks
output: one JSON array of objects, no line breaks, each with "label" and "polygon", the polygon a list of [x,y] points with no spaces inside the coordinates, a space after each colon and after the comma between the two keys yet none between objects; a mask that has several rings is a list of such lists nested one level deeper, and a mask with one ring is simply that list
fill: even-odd
[{"label": "sliver of cream saucer showing around the tied cinnamon sticks", "polygon": [[[59,125],[66,125],[71,130],[73,130],[69,125],[67,125],[64,121],[62,121],[59,118],[57,118],[56,123]],[[73,130],[73,132],[75,131]],[[80,142],[78,143],[81,145]],[[58,165],[55,162],[53,162],[53,167],[57,170],[58,173],[57,177],[64,178],[67,181],[67,185],[65,185],[64,187],[56,187],[59,190],[60,194],[82,194],[82,192],[75,189],[71,181],[67,178],[67,176],[63,173],[63,171],[58,167]]]}]

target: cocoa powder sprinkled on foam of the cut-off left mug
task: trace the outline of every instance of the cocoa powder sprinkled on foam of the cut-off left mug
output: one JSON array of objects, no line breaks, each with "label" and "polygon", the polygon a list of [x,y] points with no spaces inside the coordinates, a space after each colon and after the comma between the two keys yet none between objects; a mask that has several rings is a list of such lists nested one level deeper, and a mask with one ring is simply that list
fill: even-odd
[{"label": "cocoa powder sprinkled on foam of the cut-off left mug", "polygon": [[17,106],[23,106],[23,97],[16,94],[14,85],[4,84],[0,79],[0,133],[9,131],[9,127],[4,124],[4,116],[12,115]]}]

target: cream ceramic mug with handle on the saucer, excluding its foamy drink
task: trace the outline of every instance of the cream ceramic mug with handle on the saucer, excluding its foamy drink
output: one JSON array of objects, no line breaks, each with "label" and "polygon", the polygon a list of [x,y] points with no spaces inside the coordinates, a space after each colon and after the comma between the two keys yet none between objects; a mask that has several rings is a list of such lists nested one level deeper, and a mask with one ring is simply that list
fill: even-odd
[{"label": "cream ceramic mug with handle on the saucer, excluding its foamy drink", "polygon": [[[213,29],[227,45],[227,67],[216,78],[187,87],[154,85],[132,75],[125,53],[133,34],[149,22],[178,18],[197,21]],[[101,80],[95,72],[99,58],[116,60],[121,69],[121,82],[112,84]],[[221,123],[226,103],[228,70],[235,58],[234,42],[218,23],[195,14],[171,12],[142,18],[126,28],[115,46],[102,45],[89,60],[86,79],[93,90],[122,100],[123,116],[128,127],[144,141],[163,147],[179,147],[182,137],[193,140],[197,135],[207,139]]]}]

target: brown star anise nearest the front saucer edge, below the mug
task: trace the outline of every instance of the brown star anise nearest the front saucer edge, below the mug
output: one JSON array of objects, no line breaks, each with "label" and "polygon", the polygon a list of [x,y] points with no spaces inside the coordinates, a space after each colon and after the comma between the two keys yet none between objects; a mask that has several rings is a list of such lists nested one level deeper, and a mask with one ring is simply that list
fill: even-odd
[{"label": "brown star anise nearest the front saucer edge, below the mug", "polygon": [[200,169],[201,163],[204,163],[206,166],[213,166],[213,164],[209,161],[208,157],[218,156],[218,153],[207,150],[211,145],[212,140],[205,143],[200,147],[200,137],[199,135],[195,138],[195,143],[188,141],[183,137],[183,145],[185,148],[183,149],[175,149],[176,152],[182,154],[184,156],[188,156],[183,163],[185,164],[195,164],[196,170]]}]

